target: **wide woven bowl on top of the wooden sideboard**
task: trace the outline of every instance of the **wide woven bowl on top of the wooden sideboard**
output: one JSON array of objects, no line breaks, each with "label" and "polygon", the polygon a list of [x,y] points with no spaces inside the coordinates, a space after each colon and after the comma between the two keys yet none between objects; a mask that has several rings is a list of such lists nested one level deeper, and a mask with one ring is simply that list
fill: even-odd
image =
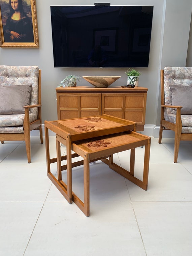
[{"label": "wide woven bowl on top of the wooden sideboard", "polygon": [[87,82],[95,87],[106,88],[113,84],[121,76],[82,76]]}]

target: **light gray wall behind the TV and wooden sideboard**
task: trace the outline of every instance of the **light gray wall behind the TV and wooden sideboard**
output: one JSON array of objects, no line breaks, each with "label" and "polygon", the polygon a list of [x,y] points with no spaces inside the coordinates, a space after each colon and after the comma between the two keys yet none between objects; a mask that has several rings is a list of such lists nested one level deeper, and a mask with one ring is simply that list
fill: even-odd
[{"label": "light gray wall behind the TV and wooden sideboard", "polygon": [[[102,2],[102,1],[100,1]],[[106,2],[106,1],[103,1]],[[192,66],[191,0],[111,0],[111,5],[154,5],[149,68],[140,68],[139,85],[148,88],[146,124],[159,125],[160,69]],[[120,75],[111,86],[125,85],[127,69],[54,68],[50,5],[93,5],[91,0],[36,0],[38,49],[0,48],[1,65],[37,65],[42,69],[42,119],[57,119],[55,88],[69,74]],[[192,27],[192,26],[191,26]],[[188,44],[189,42],[189,44]],[[187,62],[186,62],[187,61]],[[77,86],[90,86],[86,81]]]}]

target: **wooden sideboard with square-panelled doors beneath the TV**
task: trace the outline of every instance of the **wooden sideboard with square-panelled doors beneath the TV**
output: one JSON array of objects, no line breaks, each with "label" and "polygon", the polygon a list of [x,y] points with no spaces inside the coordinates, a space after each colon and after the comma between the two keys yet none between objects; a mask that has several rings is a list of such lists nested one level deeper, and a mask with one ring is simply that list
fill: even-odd
[{"label": "wooden sideboard with square-panelled doors beneath the TV", "polygon": [[58,120],[106,114],[137,123],[143,131],[147,88],[57,87]]}]

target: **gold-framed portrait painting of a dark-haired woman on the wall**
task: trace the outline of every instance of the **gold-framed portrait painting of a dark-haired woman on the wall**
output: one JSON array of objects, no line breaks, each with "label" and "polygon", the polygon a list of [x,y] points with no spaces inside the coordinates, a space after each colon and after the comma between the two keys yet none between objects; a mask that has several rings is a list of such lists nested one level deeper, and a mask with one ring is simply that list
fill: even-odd
[{"label": "gold-framed portrait painting of a dark-haired woman on the wall", "polygon": [[35,0],[0,0],[0,46],[39,47]]}]

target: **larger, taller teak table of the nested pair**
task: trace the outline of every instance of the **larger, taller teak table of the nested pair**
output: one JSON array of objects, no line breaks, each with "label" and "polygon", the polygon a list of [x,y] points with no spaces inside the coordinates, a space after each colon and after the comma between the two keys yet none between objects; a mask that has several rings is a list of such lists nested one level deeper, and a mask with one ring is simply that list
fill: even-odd
[{"label": "larger, taller teak table of the nested pair", "polygon": [[[101,119],[103,122],[89,122],[89,120],[86,120],[87,118],[77,118],[77,119],[68,119],[68,120],[57,120],[57,121],[45,121],[45,147],[46,147],[46,159],[47,159],[47,176],[50,178],[50,180],[55,184],[55,186],[59,189],[59,191],[63,194],[63,196],[66,198],[66,200],[71,203],[72,202],[72,154],[71,154],[71,147],[72,142],[75,140],[81,140],[85,138],[92,138],[108,134],[114,134],[118,132],[128,131],[128,130],[134,130],[136,131],[136,123],[111,117],[108,115],[99,115],[99,116],[93,116],[92,118]],[[93,120],[94,121],[94,120]],[[95,128],[88,131],[78,131],[78,125],[79,123],[85,123],[89,124],[92,123],[91,126],[94,126]],[[93,125],[96,124],[97,125]],[[104,124],[102,126],[101,124]],[[49,131],[51,130],[57,134],[57,136],[60,136],[62,138],[61,143],[63,143],[66,146],[66,159],[67,159],[67,184],[63,183],[60,178],[61,176],[58,176],[58,179],[54,177],[54,175],[51,173],[51,163],[57,162],[58,165],[58,171],[62,170],[61,163],[58,159],[63,159],[63,157],[60,156],[59,153],[59,143],[57,143],[57,158],[50,159],[50,153],[49,153]],[[63,190],[62,190],[63,187]],[[62,191],[61,191],[62,190]]]}]

